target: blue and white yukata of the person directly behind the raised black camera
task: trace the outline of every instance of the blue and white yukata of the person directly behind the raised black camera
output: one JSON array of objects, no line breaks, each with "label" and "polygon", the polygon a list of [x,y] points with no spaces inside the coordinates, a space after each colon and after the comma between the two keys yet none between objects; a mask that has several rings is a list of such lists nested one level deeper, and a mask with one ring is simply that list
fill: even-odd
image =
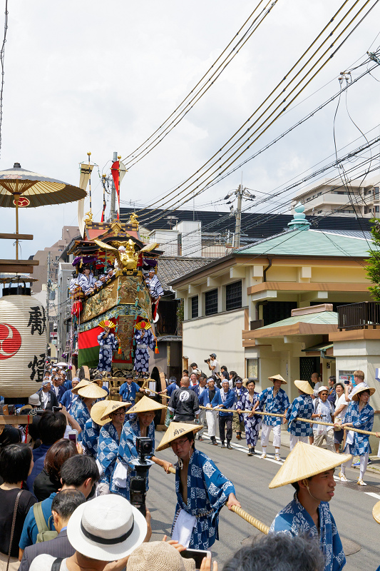
[{"label": "blue and white yukata of the person directly behind the raised black camera", "polygon": [[[129,420],[123,426],[123,431],[120,437],[120,445],[118,448],[118,458],[113,470],[111,478],[110,491],[114,494],[122,495],[129,500],[130,478],[136,475],[128,462],[138,458],[136,450],[136,438],[141,436],[140,421],[138,418]],[[153,452],[155,449],[155,423],[151,422],[148,426],[147,437],[153,440]],[[146,477],[146,489],[148,490],[148,475]]]}]

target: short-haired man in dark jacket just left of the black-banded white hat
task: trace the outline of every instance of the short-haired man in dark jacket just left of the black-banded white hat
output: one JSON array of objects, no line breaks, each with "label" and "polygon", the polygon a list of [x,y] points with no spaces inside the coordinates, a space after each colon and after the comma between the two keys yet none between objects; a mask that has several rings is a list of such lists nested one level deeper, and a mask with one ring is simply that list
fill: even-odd
[{"label": "short-haired man in dark jacket just left of the black-banded white hat", "polygon": [[43,541],[35,545],[29,545],[22,555],[19,571],[29,571],[34,557],[46,553],[53,557],[71,557],[75,549],[71,547],[67,537],[67,524],[78,505],[86,502],[86,497],[79,490],[70,488],[62,490],[53,499],[51,514],[53,515],[54,527],[58,531],[58,537],[53,540]]}]

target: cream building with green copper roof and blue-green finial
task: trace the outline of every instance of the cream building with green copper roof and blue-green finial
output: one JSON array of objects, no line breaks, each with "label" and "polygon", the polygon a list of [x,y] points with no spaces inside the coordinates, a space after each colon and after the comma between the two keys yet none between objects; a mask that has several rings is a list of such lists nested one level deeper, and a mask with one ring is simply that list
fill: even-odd
[{"label": "cream building with green copper roof and blue-green finial", "polygon": [[215,352],[221,365],[256,378],[259,388],[280,373],[292,398],[293,380],[317,371],[326,382],[334,374],[329,334],[338,330],[339,305],[370,300],[366,239],[314,230],[303,207],[296,210],[288,231],[170,282],[184,300],[183,353],[190,360],[203,363]]}]

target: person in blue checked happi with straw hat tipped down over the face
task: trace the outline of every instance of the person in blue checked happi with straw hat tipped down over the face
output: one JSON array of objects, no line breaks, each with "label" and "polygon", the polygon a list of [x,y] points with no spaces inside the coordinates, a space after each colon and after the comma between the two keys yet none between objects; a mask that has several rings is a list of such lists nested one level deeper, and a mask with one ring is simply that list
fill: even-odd
[{"label": "person in blue checked happi with straw hat tipped down over the face", "polygon": [[313,427],[310,423],[303,423],[302,420],[296,418],[314,418],[313,400],[310,395],[313,389],[307,380],[294,380],[299,396],[294,398],[292,404],[287,410],[287,431],[289,433],[289,448],[292,452],[297,442],[307,443],[309,436],[313,434]]}]

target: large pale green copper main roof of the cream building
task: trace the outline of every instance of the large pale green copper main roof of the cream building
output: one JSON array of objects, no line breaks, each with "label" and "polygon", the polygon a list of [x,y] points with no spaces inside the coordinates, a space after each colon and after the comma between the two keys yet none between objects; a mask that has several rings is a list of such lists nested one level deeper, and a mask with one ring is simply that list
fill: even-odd
[{"label": "large pale green copper main roof of the cream building", "polygon": [[[368,258],[369,248],[375,248],[365,238],[351,238],[333,231],[310,230],[303,226],[259,243],[240,248],[238,254],[271,254],[273,256],[349,256]],[[377,248],[376,248],[377,249]]]}]

